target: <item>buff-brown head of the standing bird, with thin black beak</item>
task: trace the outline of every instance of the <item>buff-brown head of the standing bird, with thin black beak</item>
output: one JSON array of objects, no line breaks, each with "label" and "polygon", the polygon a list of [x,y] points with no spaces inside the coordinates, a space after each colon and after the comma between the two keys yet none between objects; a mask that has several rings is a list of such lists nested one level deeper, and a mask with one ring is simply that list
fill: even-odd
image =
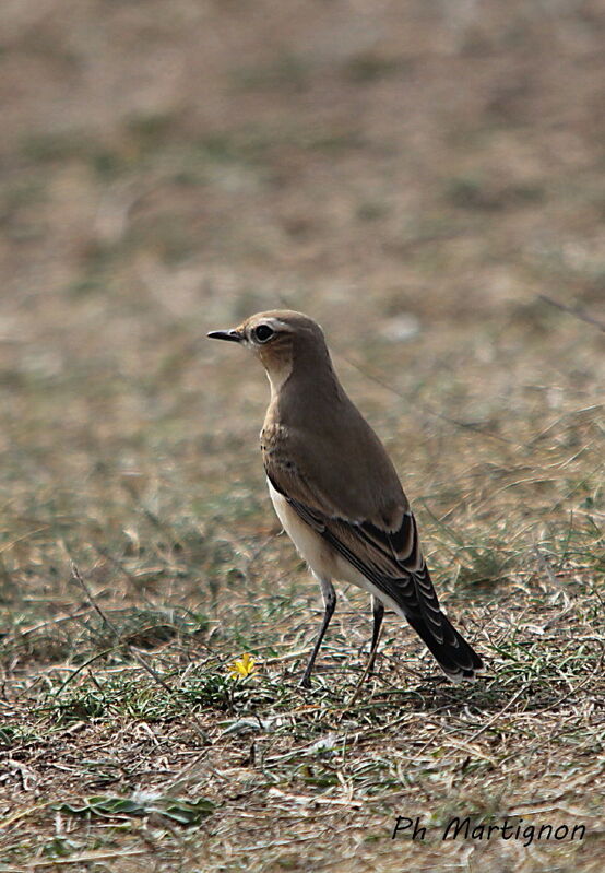
[{"label": "buff-brown head of the standing bird, with thin black beak", "polygon": [[[272,309],[250,316],[239,327],[213,330],[211,340],[237,342],[260,358],[269,376],[271,388],[278,391],[295,366],[304,367],[329,362],[323,331],[317,322],[302,312],[290,309]],[[315,361],[313,361],[315,359]]]}]

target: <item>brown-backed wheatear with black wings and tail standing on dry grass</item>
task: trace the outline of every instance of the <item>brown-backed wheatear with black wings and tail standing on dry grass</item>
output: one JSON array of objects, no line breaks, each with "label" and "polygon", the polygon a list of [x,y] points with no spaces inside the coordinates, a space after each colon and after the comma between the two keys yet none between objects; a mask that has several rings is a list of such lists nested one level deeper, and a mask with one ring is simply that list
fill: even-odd
[{"label": "brown-backed wheatear with black wings and tail standing on dry grass", "polygon": [[310,685],[334,612],[332,579],[371,594],[370,666],[389,606],[407,620],[450,680],[473,679],[482,659],[439,607],[399,476],[341,386],[319,325],[300,312],[273,310],[207,335],[252,351],[271,385],[261,432],[269,493],[318,578],[325,606],[301,685]]}]

